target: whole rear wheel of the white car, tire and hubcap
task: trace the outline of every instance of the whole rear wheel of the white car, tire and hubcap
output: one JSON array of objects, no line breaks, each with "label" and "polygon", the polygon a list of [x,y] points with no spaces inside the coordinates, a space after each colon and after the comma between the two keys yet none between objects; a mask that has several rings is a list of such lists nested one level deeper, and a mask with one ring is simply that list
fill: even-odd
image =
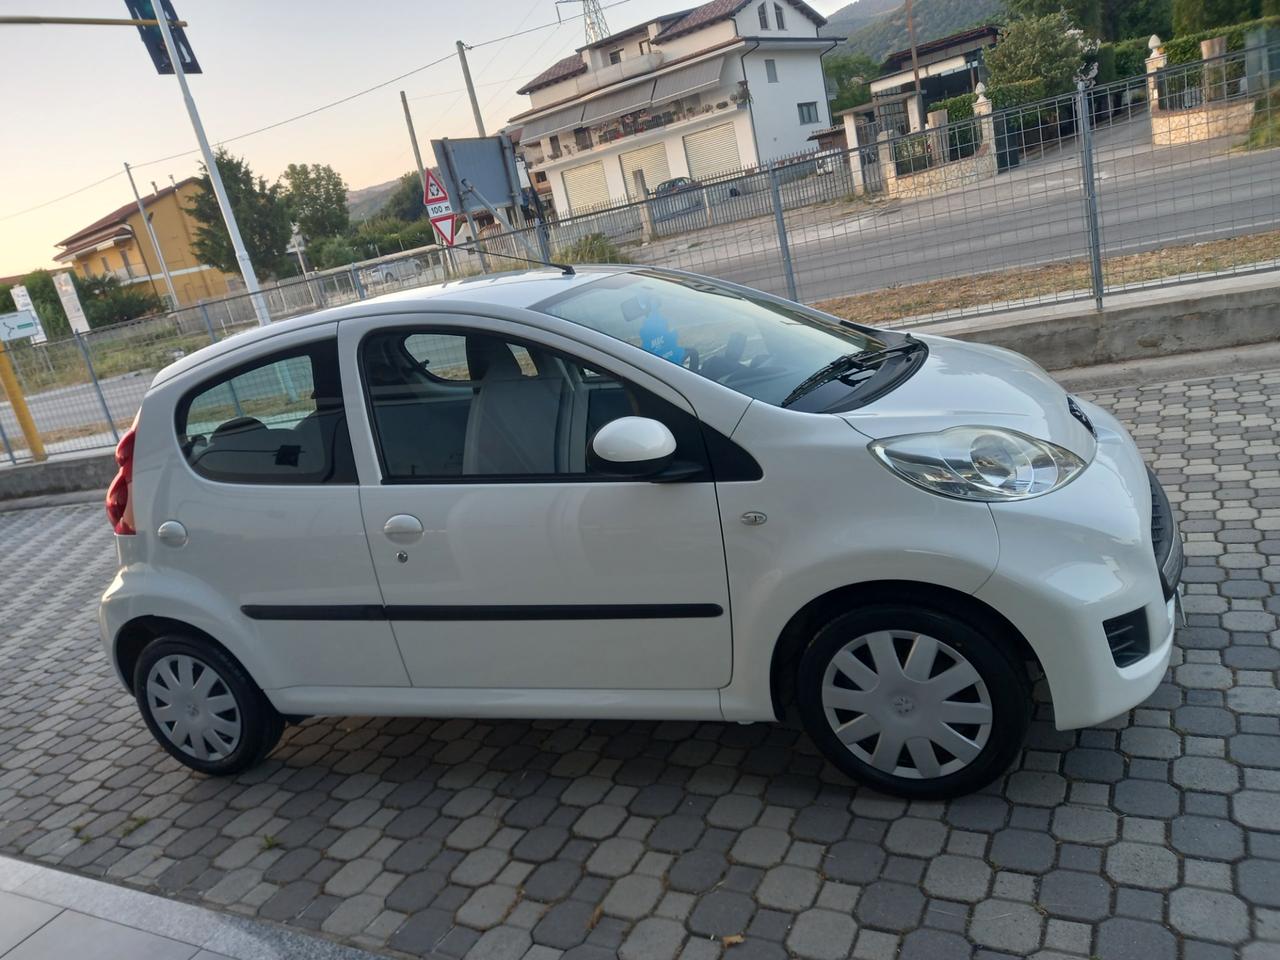
[{"label": "whole rear wheel of the white car, tire and hubcap", "polygon": [[212,644],[163,636],[142,650],[133,692],[147,728],[201,773],[256,765],[279,742],[284,719],[234,659]]}]

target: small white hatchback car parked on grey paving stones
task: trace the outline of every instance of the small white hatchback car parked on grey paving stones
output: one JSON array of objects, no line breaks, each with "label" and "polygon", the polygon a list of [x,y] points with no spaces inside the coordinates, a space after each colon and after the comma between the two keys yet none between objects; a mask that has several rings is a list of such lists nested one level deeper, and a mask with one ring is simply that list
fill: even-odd
[{"label": "small white hatchback car parked on grey paving stones", "polygon": [[1007,351],[639,268],[448,283],[163,370],[108,494],[110,662],[197,771],[315,714],[769,722],[943,797],[1165,675],[1181,544]]}]

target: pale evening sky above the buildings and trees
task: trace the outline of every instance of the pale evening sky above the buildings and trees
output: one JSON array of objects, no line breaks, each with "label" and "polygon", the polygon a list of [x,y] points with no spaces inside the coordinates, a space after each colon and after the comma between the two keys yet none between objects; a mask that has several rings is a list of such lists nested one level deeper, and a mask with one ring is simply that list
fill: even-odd
[{"label": "pale evening sky above the buildings and trees", "polygon": [[[829,14],[846,0],[817,0]],[[604,0],[611,31],[694,5]],[[554,0],[174,0],[204,73],[191,78],[209,138],[274,180],[321,163],[352,189],[413,169],[399,91],[424,160],[433,137],[475,136],[456,58],[333,109],[255,136],[454,51],[467,56],[486,132],[527,108],[516,90],[584,42],[582,20],[556,24]],[[561,8],[564,18],[579,4]],[[124,17],[122,0],[0,0],[0,15]],[[488,42],[486,42],[488,41]],[[0,276],[54,265],[58,241],[129,202],[138,189],[198,173],[178,83],[156,74],[133,27],[0,24]],[[184,156],[150,163],[191,151]],[[110,178],[88,189],[81,188]],[[74,196],[61,198],[76,192]],[[50,202],[56,201],[56,202]],[[38,209],[32,209],[38,207]]]}]

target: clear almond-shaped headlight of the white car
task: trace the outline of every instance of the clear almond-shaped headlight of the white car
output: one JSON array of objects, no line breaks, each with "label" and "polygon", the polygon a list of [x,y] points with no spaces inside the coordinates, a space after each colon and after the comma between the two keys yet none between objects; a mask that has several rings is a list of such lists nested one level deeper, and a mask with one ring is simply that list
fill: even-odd
[{"label": "clear almond-shaped headlight of the white car", "polygon": [[1084,470],[1084,461],[1070,451],[998,426],[893,436],[868,449],[904,480],[963,500],[1039,497]]}]

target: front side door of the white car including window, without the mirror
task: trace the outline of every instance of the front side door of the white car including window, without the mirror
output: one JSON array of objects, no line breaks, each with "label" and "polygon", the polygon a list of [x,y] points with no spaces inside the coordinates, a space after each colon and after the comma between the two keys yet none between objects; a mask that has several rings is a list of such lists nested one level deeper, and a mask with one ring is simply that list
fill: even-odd
[{"label": "front side door of the white car including window, without the mirror", "polygon": [[412,684],[723,686],[730,605],[709,470],[618,480],[586,460],[594,430],[639,413],[705,467],[692,411],[652,378],[529,330],[434,315],[340,324],[343,380],[367,425],[361,508]]}]

